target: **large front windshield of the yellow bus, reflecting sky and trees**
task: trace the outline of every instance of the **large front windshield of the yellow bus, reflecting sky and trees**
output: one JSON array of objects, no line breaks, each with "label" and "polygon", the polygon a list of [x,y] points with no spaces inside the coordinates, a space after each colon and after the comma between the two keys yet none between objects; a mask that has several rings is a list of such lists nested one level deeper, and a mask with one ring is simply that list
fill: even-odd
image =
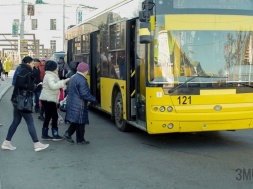
[{"label": "large front windshield of the yellow bus, reflecting sky and trees", "polygon": [[153,79],[172,83],[202,75],[215,76],[212,80],[219,76],[231,82],[253,81],[252,34],[162,30],[155,46]]}]

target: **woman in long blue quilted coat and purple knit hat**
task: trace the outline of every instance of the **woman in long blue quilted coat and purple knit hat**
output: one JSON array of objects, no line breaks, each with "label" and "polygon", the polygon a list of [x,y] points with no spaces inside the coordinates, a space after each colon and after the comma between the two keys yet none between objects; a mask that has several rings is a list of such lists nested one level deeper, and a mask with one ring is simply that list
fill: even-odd
[{"label": "woman in long blue quilted coat and purple knit hat", "polygon": [[74,143],[72,135],[76,132],[77,144],[89,144],[84,139],[85,125],[89,124],[87,102],[97,104],[96,98],[91,95],[86,75],[89,65],[81,62],[77,66],[77,73],[71,77],[68,83],[68,96],[66,104],[65,121],[71,123],[64,134],[64,138]]}]

